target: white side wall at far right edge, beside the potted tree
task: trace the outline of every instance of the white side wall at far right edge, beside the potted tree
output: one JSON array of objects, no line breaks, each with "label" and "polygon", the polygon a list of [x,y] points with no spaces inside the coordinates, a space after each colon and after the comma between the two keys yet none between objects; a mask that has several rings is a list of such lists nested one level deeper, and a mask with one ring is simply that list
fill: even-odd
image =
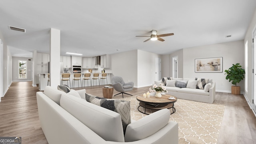
[{"label": "white side wall at far right edge, beside the potted tree", "polygon": [[[254,12],[254,16],[252,17],[252,21],[250,23],[250,26],[246,32],[246,36],[244,37],[244,44],[246,43],[246,41],[248,41],[248,92],[245,93],[246,98],[248,99],[250,105],[252,105],[252,99],[253,99],[253,73],[252,73],[252,69],[253,69],[253,43],[252,43],[252,32],[253,30],[256,28],[256,10]],[[254,40],[255,42],[255,40]],[[254,74],[255,74],[255,70],[254,70]],[[255,102],[256,100],[254,100]]]}]

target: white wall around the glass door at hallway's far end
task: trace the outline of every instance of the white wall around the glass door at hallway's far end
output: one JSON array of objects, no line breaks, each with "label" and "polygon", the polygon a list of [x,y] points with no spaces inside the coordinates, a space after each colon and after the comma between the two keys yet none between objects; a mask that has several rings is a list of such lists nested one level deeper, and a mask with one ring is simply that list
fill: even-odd
[{"label": "white wall around the glass door at hallway's far end", "polygon": [[[28,60],[30,59],[30,60]],[[27,78],[19,79],[19,61],[26,60],[27,61]],[[32,58],[24,58],[24,57],[12,57],[12,81],[20,82],[20,81],[32,81]]]}]

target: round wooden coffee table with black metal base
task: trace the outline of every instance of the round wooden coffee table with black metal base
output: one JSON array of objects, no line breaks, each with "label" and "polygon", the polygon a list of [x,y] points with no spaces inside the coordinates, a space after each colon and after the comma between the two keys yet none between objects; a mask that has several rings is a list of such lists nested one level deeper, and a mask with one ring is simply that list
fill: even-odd
[{"label": "round wooden coffee table with black metal base", "polygon": [[[174,97],[174,100],[168,99],[170,97]],[[155,96],[150,96],[150,98],[143,98],[143,95],[140,94],[136,97],[136,99],[140,102],[138,106],[138,111],[143,114],[147,114],[146,109],[162,110],[164,108],[172,108],[171,114],[176,112],[176,109],[174,108],[174,102],[177,102],[177,98],[169,94],[162,95],[162,98],[156,98]],[[145,109],[144,112],[139,110],[140,107],[143,107]]]}]

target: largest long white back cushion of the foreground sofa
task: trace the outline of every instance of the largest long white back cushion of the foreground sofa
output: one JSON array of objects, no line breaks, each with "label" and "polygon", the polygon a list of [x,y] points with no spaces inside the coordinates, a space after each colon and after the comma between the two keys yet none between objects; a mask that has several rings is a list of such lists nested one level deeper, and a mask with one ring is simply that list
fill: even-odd
[{"label": "largest long white back cushion of the foreground sofa", "polygon": [[66,93],[61,95],[60,106],[104,140],[124,142],[120,114]]}]

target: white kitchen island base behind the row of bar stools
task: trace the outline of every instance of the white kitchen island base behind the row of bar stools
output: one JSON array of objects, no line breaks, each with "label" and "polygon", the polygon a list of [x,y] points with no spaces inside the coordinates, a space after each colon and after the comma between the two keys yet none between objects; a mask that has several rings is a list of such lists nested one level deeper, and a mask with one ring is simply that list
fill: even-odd
[{"label": "white kitchen island base behind the row of bar stools", "polygon": [[[93,86],[93,80],[92,80],[92,78],[93,78],[93,74],[96,74],[96,73],[98,73],[99,74],[99,79],[102,77],[101,76],[101,74],[102,73],[100,73],[100,72],[92,72],[92,73],[90,73],[91,74],[91,82],[92,82],[92,86]],[[106,74],[107,74],[107,80],[108,80],[108,84],[111,84],[111,80],[110,80],[110,74],[112,74],[112,72],[105,72]],[[69,81],[68,81],[68,86],[71,88],[72,87],[72,81],[73,81],[73,78],[74,78],[74,73],[69,73],[70,74],[70,83],[69,83]],[[42,74],[38,74],[39,75],[39,84],[38,84],[38,86],[39,86],[39,90],[44,90],[44,88],[47,86],[47,81],[48,81],[48,77],[47,77],[47,75],[48,75],[48,73],[42,73]],[[82,84],[83,84],[83,78],[84,78],[84,73],[81,73],[81,82],[82,82]],[[60,82],[61,82],[61,79],[62,79],[62,73],[60,74]],[[106,83],[106,80],[104,80],[105,81],[105,85],[107,84]],[[81,88],[81,83],[80,83],[80,80],[79,81],[74,81],[74,88],[77,88],[78,87],[78,82],[79,82],[79,87]],[[67,84],[67,81],[64,81],[64,82],[62,82],[62,84]],[[70,84],[71,84],[71,86],[70,86]],[[94,86],[96,86],[96,85],[103,85],[104,84],[104,82],[102,82],[102,81],[100,81],[100,84],[99,84],[99,80],[94,80]],[[84,82],[84,85],[83,86],[91,86],[91,84],[90,84],[90,82],[88,82],[88,84],[87,84],[87,80]]]}]

